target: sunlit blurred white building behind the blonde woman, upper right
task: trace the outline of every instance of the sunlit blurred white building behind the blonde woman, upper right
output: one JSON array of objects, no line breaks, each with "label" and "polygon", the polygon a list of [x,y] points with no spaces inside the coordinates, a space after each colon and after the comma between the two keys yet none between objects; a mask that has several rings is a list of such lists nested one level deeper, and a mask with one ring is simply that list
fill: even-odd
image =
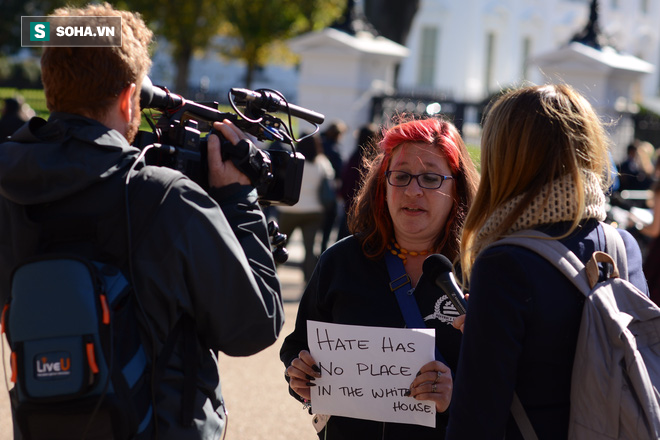
[{"label": "sunlit blurred white building behind the blonde woman, upper right", "polygon": [[[462,101],[528,80],[530,63],[566,45],[589,18],[590,0],[422,0],[399,75],[402,90],[444,92]],[[600,0],[600,28],[622,53],[660,65],[660,0]],[[660,95],[659,71],[639,85],[639,100]]]}]

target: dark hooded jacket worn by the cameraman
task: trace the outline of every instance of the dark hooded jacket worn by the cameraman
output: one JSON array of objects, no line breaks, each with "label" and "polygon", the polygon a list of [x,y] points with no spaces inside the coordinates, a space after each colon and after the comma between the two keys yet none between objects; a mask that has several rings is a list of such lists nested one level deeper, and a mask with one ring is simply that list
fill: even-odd
[{"label": "dark hooded jacket worn by the cameraman", "polygon": [[[128,265],[159,352],[183,317],[197,340],[194,421],[182,426],[184,355],[177,343],[158,383],[159,439],[217,439],[225,426],[216,352],[254,354],[283,323],[280,284],[256,191],[208,193],[183,174],[138,164],[118,132],[76,115],[34,118],[0,144],[0,301],[12,269],[50,225],[79,222]],[[125,207],[128,206],[128,215]],[[101,256],[103,258],[103,256]]]}]

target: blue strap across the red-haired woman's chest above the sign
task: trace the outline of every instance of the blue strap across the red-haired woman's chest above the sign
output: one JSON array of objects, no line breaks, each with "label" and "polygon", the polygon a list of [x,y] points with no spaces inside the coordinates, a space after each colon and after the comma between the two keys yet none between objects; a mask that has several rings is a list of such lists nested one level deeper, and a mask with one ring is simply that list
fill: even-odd
[{"label": "blue strap across the red-haired woman's chest above the sign", "polygon": [[[415,289],[412,288],[410,277],[403,267],[403,261],[396,255],[386,251],[385,263],[387,264],[387,272],[390,274],[390,290],[394,292],[396,300],[399,302],[399,308],[403,319],[406,321],[406,327],[427,328],[422,313],[419,311],[415,295],[413,295]],[[435,347],[435,359],[448,365],[445,358],[438,351],[437,345]]]}]

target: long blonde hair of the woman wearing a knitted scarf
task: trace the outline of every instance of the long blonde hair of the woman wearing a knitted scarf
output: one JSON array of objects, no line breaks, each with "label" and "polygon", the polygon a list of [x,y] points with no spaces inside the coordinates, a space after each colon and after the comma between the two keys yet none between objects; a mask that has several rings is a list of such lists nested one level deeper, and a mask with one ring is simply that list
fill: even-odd
[{"label": "long blonde hair of the woman wearing a knitted scarf", "polygon": [[[461,238],[464,283],[477,257],[475,249],[503,236],[544,186],[565,176],[577,188],[577,210],[567,234],[574,231],[585,207],[586,173],[602,176],[601,186],[609,186],[608,154],[602,122],[589,102],[570,86],[528,86],[496,98],[484,119],[481,184]],[[521,200],[516,207],[477,240],[495,210],[517,196]]]}]

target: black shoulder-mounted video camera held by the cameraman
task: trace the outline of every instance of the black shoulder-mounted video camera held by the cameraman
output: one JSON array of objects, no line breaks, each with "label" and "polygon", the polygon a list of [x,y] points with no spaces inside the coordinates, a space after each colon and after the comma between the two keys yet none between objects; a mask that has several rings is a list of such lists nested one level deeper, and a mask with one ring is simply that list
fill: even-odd
[{"label": "black shoulder-mounted video camera held by the cameraman", "polygon": [[[141,150],[149,147],[147,163],[181,171],[203,188],[208,187],[206,158],[207,138],[203,132],[217,134],[222,145],[224,160],[231,160],[257,189],[262,205],[294,205],[300,197],[305,158],[295,151],[297,142],[291,133],[291,117],[303,119],[318,131],[325,116],[305,108],[289,104],[275,90],[257,91],[232,88],[229,102],[236,113],[221,112],[218,103],[197,103],[155,86],[145,76],[140,93],[142,109],[157,109],[161,115],[154,125],[147,119],[152,132],[140,131],[135,146]],[[242,106],[243,111],[238,107]],[[288,115],[289,124],[272,115],[273,112]],[[232,145],[213,130],[213,122],[225,119],[260,141],[279,141],[291,145],[287,149],[263,150],[252,142]]]}]

